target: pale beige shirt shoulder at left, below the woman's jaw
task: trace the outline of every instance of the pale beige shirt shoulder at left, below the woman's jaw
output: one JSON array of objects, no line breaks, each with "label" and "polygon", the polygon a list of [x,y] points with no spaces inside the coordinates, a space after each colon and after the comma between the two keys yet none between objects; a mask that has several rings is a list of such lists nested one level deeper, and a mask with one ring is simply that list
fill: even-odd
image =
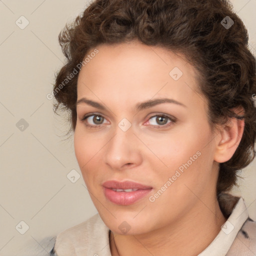
[{"label": "pale beige shirt shoulder at left, below the woman's jaw", "polygon": [[84,255],[91,243],[100,240],[106,231],[107,227],[97,213],[86,221],[60,232],[56,236],[50,255]]}]

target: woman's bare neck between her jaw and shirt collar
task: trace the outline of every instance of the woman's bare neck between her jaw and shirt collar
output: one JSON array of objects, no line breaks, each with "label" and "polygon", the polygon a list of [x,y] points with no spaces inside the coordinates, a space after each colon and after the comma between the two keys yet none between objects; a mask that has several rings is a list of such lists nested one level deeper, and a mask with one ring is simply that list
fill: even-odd
[{"label": "woman's bare neck between her jaw and shirt collar", "polygon": [[182,219],[148,233],[122,235],[111,232],[111,255],[198,255],[213,241],[225,221],[216,198],[207,206],[198,200]]}]

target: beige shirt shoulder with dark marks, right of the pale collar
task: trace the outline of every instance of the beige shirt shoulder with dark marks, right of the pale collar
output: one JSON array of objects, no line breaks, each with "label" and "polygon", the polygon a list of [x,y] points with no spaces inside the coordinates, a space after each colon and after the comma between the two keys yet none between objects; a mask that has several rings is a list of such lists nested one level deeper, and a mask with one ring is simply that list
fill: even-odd
[{"label": "beige shirt shoulder with dark marks, right of the pale collar", "polygon": [[237,233],[227,256],[238,256],[241,252],[243,255],[256,255],[256,222],[250,217],[246,219]]}]

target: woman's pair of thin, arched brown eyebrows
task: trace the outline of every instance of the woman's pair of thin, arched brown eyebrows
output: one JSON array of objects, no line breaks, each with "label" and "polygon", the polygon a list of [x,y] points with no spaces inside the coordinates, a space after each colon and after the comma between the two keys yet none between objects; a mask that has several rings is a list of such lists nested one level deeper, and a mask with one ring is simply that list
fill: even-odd
[{"label": "woman's pair of thin, arched brown eyebrows", "polygon": [[[96,108],[101,109],[101,110],[106,110],[106,107],[103,104],[98,103],[98,102],[93,101],[93,100],[90,100],[90,99],[87,99],[85,97],[82,97],[82,98],[80,98],[76,101],[76,105],[79,105],[81,103],[88,104],[90,106],[96,107]],[[177,104],[177,105],[180,105],[180,106],[187,107],[186,105],[182,104],[181,102],[178,102],[178,101],[176,101],[174,99],[171,99],[171,98],[155,98],[155,99],[149,99],[149,100],[146,100],[144,102],[137,103],[135,105],[135,110],[140,111],[142,109],[146,109],[146,108],[149,108],[149,107],[161,104],[161,103],[174,103],[174,104]]]}]

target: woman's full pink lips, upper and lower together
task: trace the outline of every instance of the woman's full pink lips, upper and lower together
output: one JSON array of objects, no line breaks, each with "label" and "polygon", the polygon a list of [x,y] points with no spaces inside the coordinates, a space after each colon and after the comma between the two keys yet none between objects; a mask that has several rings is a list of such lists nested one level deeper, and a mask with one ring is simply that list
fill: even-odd
[{"label": "woman's full pink lips, upper and lower together", "polygon": [[[151,186],[142,185],[140,183],[132,181],[116,181],[108,180],[103,184],[103,191],[105,197],[115,204],[129,205],[144,197],[147,193],[152,190]],[[125,191],[114,191],[113,189],[137,189],[135,191],[125,192]]]}]

